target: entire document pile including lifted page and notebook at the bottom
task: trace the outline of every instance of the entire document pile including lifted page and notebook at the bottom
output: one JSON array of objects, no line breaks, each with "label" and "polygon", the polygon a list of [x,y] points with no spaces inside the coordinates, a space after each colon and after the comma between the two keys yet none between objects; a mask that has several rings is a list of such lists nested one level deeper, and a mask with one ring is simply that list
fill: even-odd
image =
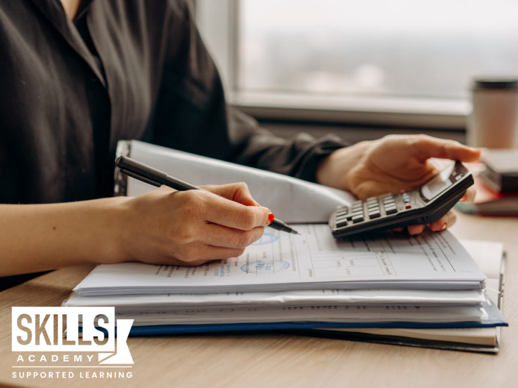
[{"label": "entire document pile including lifted page and notebook at the bottom", "polygon": [[[246,182],[254,198],[284,221],[309,223],[296,226],[301,235],[265,228],[240,257],[199,267],[99,265],[64,305],[115,306],[119,317],[134,319],[131,334],[289,329],[498,350],[498,327],[507,323],[487,295],[484,273],[448,231],[337,241],[318,222],[350,204],[347,192],[137,141],[119,142],[118,155],[195,185]],[[152,189],[116,175],[116,195]],[[482,248],[487,246],[474,251],[487,250]],[[501,253],[500,246],[498,263]],[[492,287],[498,289],[498,280]]]}]

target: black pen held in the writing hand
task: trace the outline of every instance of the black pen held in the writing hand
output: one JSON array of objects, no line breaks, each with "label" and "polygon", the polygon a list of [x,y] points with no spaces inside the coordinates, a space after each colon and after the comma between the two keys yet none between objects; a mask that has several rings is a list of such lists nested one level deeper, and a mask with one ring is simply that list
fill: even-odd
[{"label": "black pen held in the writing hand", "polygon": [[[210,192],[200,187],[191,185],[190,183],[180,181],[177,178],[167,175],[163,171],[146,166],[143,163],[133,160],[132,158],[128,158],[127,156],[119,156],[115,161],[115,164],[117,167],[119,167],[122,173],[156,187],[166,185],[178,191],[203,190]],[[291,226],[287,225],[287,223],[284,223],[277,218],[274,218],[274,220],[271,221],[270,225],[268,226],[283,232],[300,234]]]}]

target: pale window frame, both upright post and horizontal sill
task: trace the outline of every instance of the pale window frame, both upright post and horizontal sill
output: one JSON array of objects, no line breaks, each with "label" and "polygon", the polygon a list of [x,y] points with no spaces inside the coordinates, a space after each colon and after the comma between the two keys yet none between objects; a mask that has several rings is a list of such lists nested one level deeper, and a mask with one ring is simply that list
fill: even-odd
[{"label": "pale window frame, both upright post and horizontal sill", "polygon": [[465,131],[468,99],[323,96],[239,90],[239,0],[196,0],[196,22],[221,74],[227,101],[265,120]]}]

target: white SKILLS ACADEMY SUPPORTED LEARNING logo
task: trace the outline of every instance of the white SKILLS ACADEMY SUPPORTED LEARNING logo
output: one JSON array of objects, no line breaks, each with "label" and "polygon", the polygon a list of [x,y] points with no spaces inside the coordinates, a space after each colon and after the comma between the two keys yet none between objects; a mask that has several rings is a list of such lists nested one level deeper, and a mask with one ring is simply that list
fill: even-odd
[{"label": "white SKILLS ACADEMY SUPPORTED LEARNING logo", "polygon": [[[131,368],[133,364],[126,344],[133,319],[116,321],[114,307],[12,307],[11,311],[11,350],[18,353],[13,368]],[[39,377],[48,374],[39,372]],[[68,374],[74,376],[73,371]],[[83,374],[87,372],[81,371],[81,378]],[[38,372],[19,376],[13,372],[13,378],[31,375]]]}]

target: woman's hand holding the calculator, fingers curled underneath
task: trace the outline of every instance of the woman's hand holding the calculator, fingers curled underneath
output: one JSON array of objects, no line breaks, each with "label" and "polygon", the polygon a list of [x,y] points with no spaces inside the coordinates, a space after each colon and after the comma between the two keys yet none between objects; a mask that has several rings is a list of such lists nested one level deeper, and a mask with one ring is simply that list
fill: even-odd
[{"label": "woman's hand holding the calculator, fingers curled underneath", "polygon": [[[389,135],[340,148],[324,159],[316,173],[321,184],[350,191],[359,199],[400,190],[414,190],[434,177],[438,171],[430,158],[477,161],[480,150],[454,140],[437,139],[426,135]],[[463,200],[474,197],[468,189]],[[429,228],[443,230],[455,222],[455,214],[448,212]],[[425,225],[413,225],[410,234],[424,231]]]}]

